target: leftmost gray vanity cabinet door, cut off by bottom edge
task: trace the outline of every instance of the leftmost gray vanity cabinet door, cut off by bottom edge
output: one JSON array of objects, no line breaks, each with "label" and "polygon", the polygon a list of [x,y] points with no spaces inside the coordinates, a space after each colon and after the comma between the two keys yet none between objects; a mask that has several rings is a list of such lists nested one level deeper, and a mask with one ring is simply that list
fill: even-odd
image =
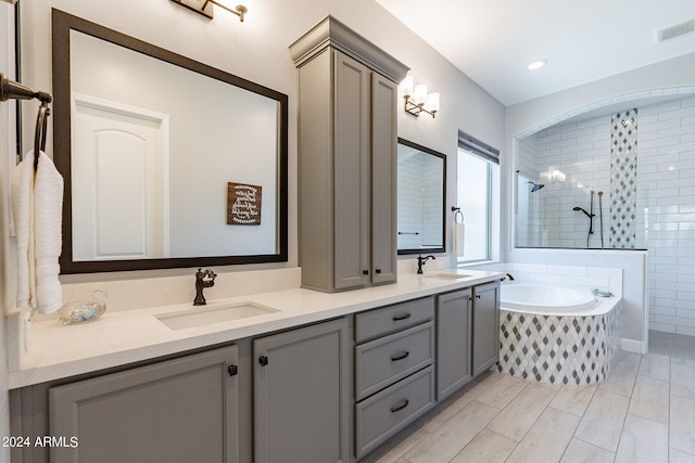
[{"label": "leftmost gray vanity cabinet door, cut off by bottom edge", "polygon": [[230,346],[50,388],[51,461],[239,461],[236,364]]}]

